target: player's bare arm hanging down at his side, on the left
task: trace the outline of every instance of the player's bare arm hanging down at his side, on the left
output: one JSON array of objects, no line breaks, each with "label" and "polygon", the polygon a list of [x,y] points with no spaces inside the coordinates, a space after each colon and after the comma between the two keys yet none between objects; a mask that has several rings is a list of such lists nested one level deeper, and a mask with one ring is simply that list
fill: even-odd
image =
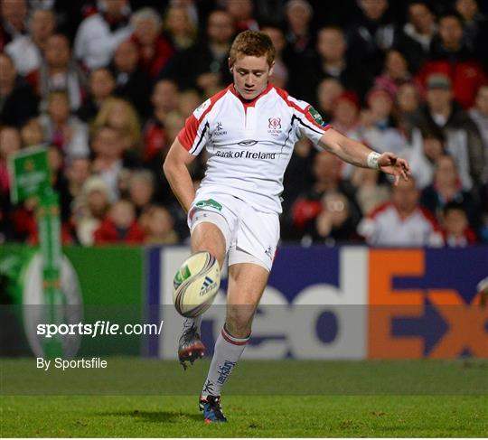
[{"label": "player's bare arm hanging down at his side, on the left", "polygon": [[188,171],[188,165],[194,159],[195,156],[188,153],[176,138],[163,164],[164,175],[185,212],[188,212],[195,198],[192,176]]}]

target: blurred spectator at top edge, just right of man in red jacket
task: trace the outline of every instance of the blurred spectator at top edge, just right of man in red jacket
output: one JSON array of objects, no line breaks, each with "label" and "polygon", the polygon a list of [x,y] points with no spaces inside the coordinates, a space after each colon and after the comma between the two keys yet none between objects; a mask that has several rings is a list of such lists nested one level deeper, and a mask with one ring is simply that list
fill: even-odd
[{"label": "blurred spectator at top edge, just right of man in red jacket", "polygon": [[188,49],[196,42],[197,28],[184,6],[168,6],[164,17],[164,32],[176,51]]}]

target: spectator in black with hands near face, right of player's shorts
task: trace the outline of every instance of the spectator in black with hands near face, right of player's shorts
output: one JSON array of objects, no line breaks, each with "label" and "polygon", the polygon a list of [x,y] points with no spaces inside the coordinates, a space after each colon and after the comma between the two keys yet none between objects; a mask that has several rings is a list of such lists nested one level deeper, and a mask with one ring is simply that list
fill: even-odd
[{"label": "spectator in black with hands near face, right of player's shorts", "polygon": [[358,219],[350,211],[350,202],[341,192],[327,192],[321,200],[322,211],[305,227],[302,245],[325,243],[333,246],[346,241],[358,241]]}]

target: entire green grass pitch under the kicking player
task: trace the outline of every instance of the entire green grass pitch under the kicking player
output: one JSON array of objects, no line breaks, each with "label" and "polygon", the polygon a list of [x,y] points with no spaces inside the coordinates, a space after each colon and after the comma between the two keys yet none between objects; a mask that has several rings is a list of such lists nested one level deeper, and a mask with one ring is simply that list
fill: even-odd
[{"label": "entire green grass pitch under the kicking player", "polygon": [[[202,423],[197,408],[208,361],[195,363],[186,372],[175,362],[136,358],[108,361],[113,367],[112,384],[106,383],[107,378],[92,376],[87,384],[80,377],[69,376],[70,382],[75,382],[72,390],[78,389],[78,395],[46,396],[48,393],[44,392],[37,396],[14,396],[15,387],[21,383],[33,387],[37,381],[32,377],[33,360],[0,360],[0,435],[483,437],[488,434],[488,362],[483,360],[243,361],[222,398],[229,423],[211,426]],[[164,373],[158,375],[157,371]],[[320,371],[325,372],[324,377],[329,378],[331,385],[309,389],[313,383],[322,381]],[[290,377],[297,380],[289,380]],[[415,378],[418,387],[413,385]],[[56,378],[47,379],[52,387]],[[271,394],[273,388],[263,388],[265,381],[270,380],[275,381],[275,389],[280,389],[282,395]],[[162,391],[155,386],[156,382],[164,381],[198,387],[191,396],[170,395],[171,387]],[[410,385],[405,387],[401,381]],[[145,387],[151,383],[155,393],[166,395],[134,394],[138,390],[148,394]],[[116,386],[120,396],[95,395]],[[262,389],[268,394],[259,394]],[[323,394],[317,394],[317,389]],[[356,395],[353,389],[359,390]],[[455,395],[446,394],[447,389],[453,389]],[[28,389],[23,389],[23,393],[27,392]],[[42,393],[42,388],[36,392]],[[132,395],[123,395],[124,392]]]}]

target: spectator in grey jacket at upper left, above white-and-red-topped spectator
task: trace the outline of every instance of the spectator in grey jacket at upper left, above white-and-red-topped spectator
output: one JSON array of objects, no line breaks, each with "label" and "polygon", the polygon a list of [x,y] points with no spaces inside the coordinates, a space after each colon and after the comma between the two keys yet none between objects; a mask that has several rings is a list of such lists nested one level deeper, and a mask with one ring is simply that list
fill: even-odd
[{"label": "spectator in grey jacket at upper left, above white-and-red-topped spectator", "polygon": [[42,111],[47,108],[52,91],[65,90],[73,111],[80,108],[85,98],[85,76],[71,60],[70,42],[61,33],[55,33],[47,39],[41,68],[31,71],[26,79],[42,99]]}]

